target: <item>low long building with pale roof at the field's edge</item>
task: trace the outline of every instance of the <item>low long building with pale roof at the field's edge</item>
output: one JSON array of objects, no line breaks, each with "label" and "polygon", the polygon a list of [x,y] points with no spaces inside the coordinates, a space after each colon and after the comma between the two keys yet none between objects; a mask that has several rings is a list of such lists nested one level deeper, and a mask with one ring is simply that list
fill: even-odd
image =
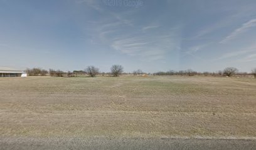
[{"label": "low long building with pale roof at the field's edge", "polygon": [[24,71],[13,69],[13,68],[0,67],[0,78],[1,77],[26,77],[26,76],[28,75]]}]

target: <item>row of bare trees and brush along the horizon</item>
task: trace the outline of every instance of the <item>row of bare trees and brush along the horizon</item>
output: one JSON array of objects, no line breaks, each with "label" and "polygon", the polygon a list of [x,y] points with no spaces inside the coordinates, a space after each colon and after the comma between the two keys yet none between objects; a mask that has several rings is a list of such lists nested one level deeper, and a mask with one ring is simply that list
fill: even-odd
[{"label": "row of bare trees and brush along the horizon", "polygon": [[[97,74],[100,74],[99,68],[96,68],[95,66],[87,66],[84,70],[80,71],[73,71],[72,73],[70,71],[65,72],[61,71],[60,69],[55,70],[55,69],[49,69],[49,71],[41,68],[33,68],[33,69],[27,69],[26,72],[28,73],[28,76],[46,76],[47,74],[50,74],[50,76],[55,76],[55,77],[72,77],[76,76],[77,74],[88,74],[90,77],[95,77]],[[124,68],[121,65],[115,64],[110,68],[110,73],[114,77],[118,77],[120,74],[124,72]],[[105,73],[101,73],[102,76],[104,76]],[[131,74],[131,73],[130,73]],[[133,71],[132,74],[134,76],[136,75],[141,75],[141,74],[146,74],[144,73],[141,69],[137,69],[136,71]],[[223,71],[217,71],[217,72],[197,72],[193,71],[192,69],[187,69],[187,70],[181,70],[181,71],[160,71],[157,73],[153,73],[154,76],[174,76],[174,75],[179,75],[179,76],[195,76],[195,75],[211,75],[211,76],[233,76],[234,74],[247,74],[247,73],[238,73],[237,68],[233,67],[228,67],[223,69]],[[256,78],[256,68],[252,69],[252,75],[254,78]]]}]

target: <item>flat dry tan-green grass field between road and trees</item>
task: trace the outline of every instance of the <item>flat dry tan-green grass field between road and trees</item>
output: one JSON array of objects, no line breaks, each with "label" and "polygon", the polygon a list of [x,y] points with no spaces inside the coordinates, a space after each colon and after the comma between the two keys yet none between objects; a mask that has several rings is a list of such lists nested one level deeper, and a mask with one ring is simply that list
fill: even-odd
[{"label": "flat dry tan-green grass field between road and trees", "polygon": [[256,138],[256,80],[0,78],[0,134]]}]

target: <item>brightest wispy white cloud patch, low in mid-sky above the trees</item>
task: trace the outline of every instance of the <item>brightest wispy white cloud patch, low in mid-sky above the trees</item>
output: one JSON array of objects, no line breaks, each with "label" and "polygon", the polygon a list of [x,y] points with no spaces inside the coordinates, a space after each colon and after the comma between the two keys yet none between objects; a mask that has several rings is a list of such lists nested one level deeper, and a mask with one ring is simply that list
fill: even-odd
[{"label": "brightest wispy white cloud patch, low in mid-sky above the trees", "polygon": [[140,56],[147,61],[156,61],[166,58],[168,51],[177,49],[176,39],[169,36],[155,35],[154,38],[147,36],[124,37],[112,42],[112,47],[120,53],[129,56]]}]

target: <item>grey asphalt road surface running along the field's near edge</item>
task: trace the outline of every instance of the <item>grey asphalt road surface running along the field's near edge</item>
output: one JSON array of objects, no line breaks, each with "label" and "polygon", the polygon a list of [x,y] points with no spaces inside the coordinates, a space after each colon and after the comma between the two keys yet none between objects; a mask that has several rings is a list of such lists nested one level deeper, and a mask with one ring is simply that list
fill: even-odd
[{"label": "grey asphalt road surface running along the field's near edge", "polygon": [[0,149],[256,149],[249,139],[0,138]]}]

